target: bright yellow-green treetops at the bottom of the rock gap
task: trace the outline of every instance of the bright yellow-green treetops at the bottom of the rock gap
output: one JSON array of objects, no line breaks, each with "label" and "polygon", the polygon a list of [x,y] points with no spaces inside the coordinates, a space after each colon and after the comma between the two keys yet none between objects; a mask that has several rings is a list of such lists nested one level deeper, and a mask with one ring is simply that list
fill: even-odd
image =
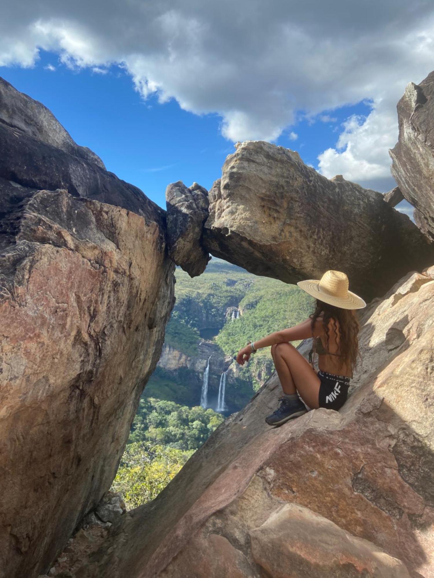
[{"label": "bright yellow-green treetops at the bottom of the rock gap", "polygon": [[193,453],[147,442],[130,443],[111,489],[121,492],[128,509],[141,506],[157,497]]}]

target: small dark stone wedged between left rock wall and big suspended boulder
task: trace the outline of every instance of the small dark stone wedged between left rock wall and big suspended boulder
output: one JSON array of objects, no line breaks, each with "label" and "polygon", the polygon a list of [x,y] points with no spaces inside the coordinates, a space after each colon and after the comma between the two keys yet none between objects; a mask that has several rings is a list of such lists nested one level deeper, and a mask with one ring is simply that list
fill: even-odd
[{"label": "small dark stone wedged between left rock wall and big suspended boulder", "polygon": [[208,218],[208,191],[193,183],[170,184],[165,191],[167,206],[167,244],[169,256],[190,277],[205,271],[211,257],[202,244],[203,224]]}]

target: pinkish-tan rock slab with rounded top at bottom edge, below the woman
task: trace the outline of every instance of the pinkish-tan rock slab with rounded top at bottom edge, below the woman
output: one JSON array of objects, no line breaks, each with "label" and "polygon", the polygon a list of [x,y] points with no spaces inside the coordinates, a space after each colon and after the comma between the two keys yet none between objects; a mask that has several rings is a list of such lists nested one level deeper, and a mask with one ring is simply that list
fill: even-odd
[{"label": "pinkish-tan rock slab with rounded top at bottom edge, below the woman", "polygon": [[410,578],[400,560],[296,504],[250,531],[255,562],[272,578]]}]

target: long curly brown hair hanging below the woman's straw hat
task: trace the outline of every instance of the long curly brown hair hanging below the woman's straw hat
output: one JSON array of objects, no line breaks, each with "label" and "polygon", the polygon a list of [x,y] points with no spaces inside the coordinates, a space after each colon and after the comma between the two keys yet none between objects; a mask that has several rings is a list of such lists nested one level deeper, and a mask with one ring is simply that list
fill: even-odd
[{"label": "long curly brown hair hanging below the woman's straw hat", "polygon": [[321,316],[327,339],[326,350],[329,350],[329,323],[331,320],[334,334],[336,335],[336,343],[339,340],[339,351],[337,352],[340,357],[339,367],[342,368],[345,364],[350,365],[354,371],[357,365],[357,358],[361,357],[358,340],[360,324],[356,312],[352,309],[335,307],[317,299],[315,310],[309,316],[311,318],[312,335],[315,322]]}]

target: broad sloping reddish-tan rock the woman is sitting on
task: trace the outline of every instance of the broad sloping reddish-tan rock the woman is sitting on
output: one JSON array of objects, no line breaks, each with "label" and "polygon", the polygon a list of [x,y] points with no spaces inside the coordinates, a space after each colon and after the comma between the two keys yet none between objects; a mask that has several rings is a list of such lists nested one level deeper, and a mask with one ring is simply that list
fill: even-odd
[{"label": "broad sloping reddish-tan rock the woman is sitting on", "polygon": [[[303,546],[309,540],[304,533],[297,549],[286,546],[276,557],[297,561],[301,568],[310,564],[318,576],[327,576],[331,566],[340,572],[335,576],[406,576],[407,569],[412,578],[431,578],[433,299],[434,280],[413,273],[370,306],[361,330],[366,361],[359,368],[358,388],[340,412],[311,410],[269,428],[264,417],[281,392],[272,377],[155,501],[127,512],[110,529],[104,545],[80,569],[80,578],[108,571],[113,578],[174,578],[182,576],[196,549],[202,575],[219,576],[212,553],[225,551],[234,576],[262,576],[260,568],[273,578],[283,576],[258,542],[270,525],[275,543],[285,539],[288,527],[279,529],[270,518],[285,505],[293,512],[299,511],[296,506],[310,510],[298,528],[302,521],[319,520],[316,547],[333,535],[346,536],[347,546],[334,546],[327,560],[318,561],[311,547]],[[391,347],[387,336],[394,329],[403,339]],[[290,530],[293,535],[297,527]]]}]

